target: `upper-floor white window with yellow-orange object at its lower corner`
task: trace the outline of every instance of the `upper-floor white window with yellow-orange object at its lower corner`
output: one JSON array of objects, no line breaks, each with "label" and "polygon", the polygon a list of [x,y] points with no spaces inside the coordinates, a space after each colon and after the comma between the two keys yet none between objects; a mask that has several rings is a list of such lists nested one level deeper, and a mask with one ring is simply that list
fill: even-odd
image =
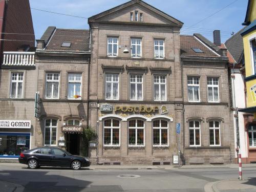
[{"label": "upper-floor white window with yellow-orange object at its lower corner", "polygon": [[82,74],[69,73],[68,99],[81,99]]}]

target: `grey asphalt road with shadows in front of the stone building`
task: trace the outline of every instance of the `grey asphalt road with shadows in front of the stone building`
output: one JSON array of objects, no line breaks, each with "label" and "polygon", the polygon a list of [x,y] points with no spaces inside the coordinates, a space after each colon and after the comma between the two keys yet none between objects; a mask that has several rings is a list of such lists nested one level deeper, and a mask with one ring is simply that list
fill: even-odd
[{"label": "grey asphalt road with shadows in front of the stone building", "polygon": [[[256,177],[256,167],[243,168],[243,177]],[[94,169],[0,166],[0,181],[24,191],[204,191],[205,184],[238,178],[238,168]],[[6,190],[8,191],[8,190]],[[10,189],[13,191],[13,189]]]}]

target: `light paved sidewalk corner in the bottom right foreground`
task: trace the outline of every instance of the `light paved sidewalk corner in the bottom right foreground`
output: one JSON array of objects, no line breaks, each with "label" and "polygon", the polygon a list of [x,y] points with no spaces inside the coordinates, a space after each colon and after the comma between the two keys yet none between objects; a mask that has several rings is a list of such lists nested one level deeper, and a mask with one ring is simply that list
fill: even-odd
[{"label": "light paved sidewalk corner in the bottom right foreground", "polygon": [[255,192],[256,191],[256,177],[246,180],[222,180],[211,182],[205,185],[205,192],[219,192],[219,191],[232,191],[232,192]]}]

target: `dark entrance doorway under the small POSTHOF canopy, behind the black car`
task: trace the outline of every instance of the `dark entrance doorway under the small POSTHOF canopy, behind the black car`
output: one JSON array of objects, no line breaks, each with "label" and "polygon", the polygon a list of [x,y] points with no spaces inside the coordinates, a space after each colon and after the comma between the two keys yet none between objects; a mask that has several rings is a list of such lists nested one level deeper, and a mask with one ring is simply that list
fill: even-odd
[{"label": "dark entrance doorway under the small POSTHOF canopy, behind the black car", "polygon": [[80,155],[80,135],[66,133],[67,151],[72,155]]}]

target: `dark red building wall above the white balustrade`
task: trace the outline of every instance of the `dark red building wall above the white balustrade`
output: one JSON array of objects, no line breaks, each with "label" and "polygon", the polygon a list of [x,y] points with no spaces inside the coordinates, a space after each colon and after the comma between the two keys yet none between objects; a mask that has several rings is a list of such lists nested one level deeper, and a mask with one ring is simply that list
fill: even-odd
[{"label": "dark red building wall above the white balustrade", "polygon": [[2,41],[3,51],[16,51],[17,48],[22,45],[30,45],[30,47],[35,46],[35,35],[29,0],[8,1],[4,17],[4,33],[2,37],[6,40]]}]

